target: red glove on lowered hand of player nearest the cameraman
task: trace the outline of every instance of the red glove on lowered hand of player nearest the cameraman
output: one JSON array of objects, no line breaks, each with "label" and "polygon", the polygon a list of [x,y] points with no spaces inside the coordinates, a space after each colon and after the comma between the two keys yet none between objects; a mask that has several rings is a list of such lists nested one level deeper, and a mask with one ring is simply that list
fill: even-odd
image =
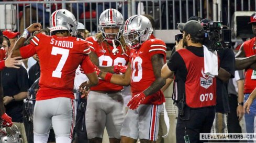
[{"label": "red glove on lowered hand of player nearest the cameraman", "polygon": [[137,109],[139,107],[139,105],[145,100],[145,98],[146,98],[146,95],[144,93],[139,93],[139,94],[131,97],[127,106],[132,110]]}]

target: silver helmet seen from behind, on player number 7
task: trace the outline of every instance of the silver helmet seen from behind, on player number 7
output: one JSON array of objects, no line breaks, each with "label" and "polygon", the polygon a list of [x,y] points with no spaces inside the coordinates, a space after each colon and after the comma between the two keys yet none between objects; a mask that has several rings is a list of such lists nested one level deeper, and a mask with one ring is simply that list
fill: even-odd
[{"label": "silver helmet seen from behind, on player number 7", "polygon": [[77,21],[75,16],[66,9],[59,9],[50,17],[50,32],[68,30],[72,36],[76,35]]}]

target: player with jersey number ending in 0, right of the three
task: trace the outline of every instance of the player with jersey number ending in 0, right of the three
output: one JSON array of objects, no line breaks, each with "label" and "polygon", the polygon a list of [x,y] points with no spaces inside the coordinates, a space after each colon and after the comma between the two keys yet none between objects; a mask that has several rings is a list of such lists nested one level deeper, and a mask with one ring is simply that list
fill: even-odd
[{"label": "player with jersey number ending in 0, right of the three", "polygon": [[120,142],[156,142],[159,116],[165,98],[161,87],[165,81],[161,68],[165,63],[166,45],[157,38],[149,40],[152,26],[148,18],[135,15],[124,25],[125,43],[131,48],[130,63],[125,74],[106,73],[97,69],[99,77],[119,85],[131,85],[132,98],[121,128]]}]

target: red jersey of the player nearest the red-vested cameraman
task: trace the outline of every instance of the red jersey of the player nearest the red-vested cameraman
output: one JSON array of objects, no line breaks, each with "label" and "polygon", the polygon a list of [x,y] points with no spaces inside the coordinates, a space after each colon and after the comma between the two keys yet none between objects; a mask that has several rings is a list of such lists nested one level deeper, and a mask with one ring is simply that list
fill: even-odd
[{"label": "red jersey of the player nearest the red-vested cameraman", "polygon": [[[151,39],[141,44],[139,49],[132,49],[130,54],[131,61],[131,92],[132,96],[143,92],[154,81],[154,71],[151,57],[161,54],[166,59],[166,45],[160,39]],[[147,96],[143,104],[160,105],[165,102],[161,90],[153,95]]]}]

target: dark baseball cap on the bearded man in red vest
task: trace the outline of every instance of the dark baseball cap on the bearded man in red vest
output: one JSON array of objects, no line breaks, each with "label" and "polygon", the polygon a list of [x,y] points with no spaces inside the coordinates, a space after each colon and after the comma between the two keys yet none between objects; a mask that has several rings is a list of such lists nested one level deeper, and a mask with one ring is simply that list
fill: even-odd
[{"label": "dark baseball cap on the bearded man in red vest", "polygon": [[186,33],[190,34],[192,37],[202,38],[204,37],[204,28],[196,20],[190,20],[186,23],[180,23],[178,25],[178,29],[180,31],[185,31]]}]

